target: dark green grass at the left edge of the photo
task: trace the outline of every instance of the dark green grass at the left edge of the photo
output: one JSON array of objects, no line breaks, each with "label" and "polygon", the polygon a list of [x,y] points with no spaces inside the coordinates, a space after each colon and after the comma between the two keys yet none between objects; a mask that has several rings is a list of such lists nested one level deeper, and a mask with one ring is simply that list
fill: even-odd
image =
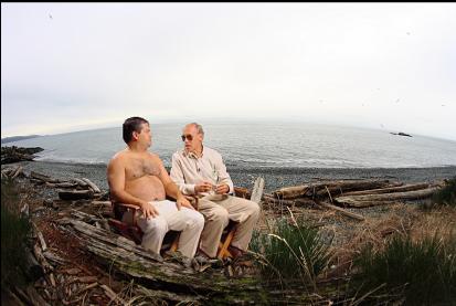
[{"label": "dark green grass at the left edge of the photo", "polygon": [[1,180],[1,287],[25,285],[22,272],[25,263],[26,241],[31,230],[28,219],[18,213],[19,197],[13,183]]}]

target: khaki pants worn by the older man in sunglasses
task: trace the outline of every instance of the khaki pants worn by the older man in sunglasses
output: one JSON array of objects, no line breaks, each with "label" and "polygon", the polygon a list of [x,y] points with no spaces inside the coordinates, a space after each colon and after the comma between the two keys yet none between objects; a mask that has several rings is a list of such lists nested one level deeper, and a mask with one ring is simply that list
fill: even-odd
[{"label": "khaki pants worn by the older man in sunglasses", "polygon": [[204,215],[205,224],[201,233],[201,250],[211,257],[216,256],[223,229],[230,220],[238,222],[231,245],[246,251],[252,232],[259,218],[257,203],[225,194],[201,198],[198,210]]}]

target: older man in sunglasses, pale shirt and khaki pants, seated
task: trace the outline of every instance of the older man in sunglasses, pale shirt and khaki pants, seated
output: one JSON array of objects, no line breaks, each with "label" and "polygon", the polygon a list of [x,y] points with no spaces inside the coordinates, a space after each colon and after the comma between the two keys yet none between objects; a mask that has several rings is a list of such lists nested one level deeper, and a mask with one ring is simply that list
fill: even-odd
[{"label": "older man in sunglasses, pale shirt and khaki pants, seated", "polygon": [[171,179],[182,193],[201,197],[198,209],[205,219],[201,255],[216,256],[223,229],[233,220],[238,225],[229,250],[237,257],[248,247],[259,207],[255,202],[229,196],[234,188],[222,156],[203,146],[203,139],[201,125],[191,123],[183,128],[184,149],[172,155]]}]

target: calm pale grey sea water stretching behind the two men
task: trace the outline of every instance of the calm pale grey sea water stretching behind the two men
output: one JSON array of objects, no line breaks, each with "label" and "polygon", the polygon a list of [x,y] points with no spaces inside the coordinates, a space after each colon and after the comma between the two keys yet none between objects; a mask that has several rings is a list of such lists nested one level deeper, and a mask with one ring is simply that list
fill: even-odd
[{"label": "calm pale grey sea water stretching behind the two men", "polygon": [[[151,151],[170,166],[182,148],[182,124],[151,125]],[[385,130],[315,124],[204,124],[205,145],[222,152],[229,166],[304,168],[402,168],[456,165],[456,143]],[[36,160],[107,163],[125,148],[121,128],[44,136],[6,144],[42,147]]]}]

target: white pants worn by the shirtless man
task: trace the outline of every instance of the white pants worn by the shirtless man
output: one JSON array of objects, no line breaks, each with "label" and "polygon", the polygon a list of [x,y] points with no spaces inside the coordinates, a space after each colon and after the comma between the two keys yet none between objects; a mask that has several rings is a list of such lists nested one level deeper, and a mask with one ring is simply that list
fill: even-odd
[{"label": "white pants worn by the shirtless man", "polygon": [[[197,252],[204,218],[195,210],[181,208],[169,200],[149,202],[158,211],[158,215],[149,219],[139,213],[137,223],[144,232],[141,245],[144,249],[160,254],[165,234],[168,231],[181,232],[178,251],[182,255],[193,257]],[[123,220],[131,220],[131,212],[124,213]]]}]

